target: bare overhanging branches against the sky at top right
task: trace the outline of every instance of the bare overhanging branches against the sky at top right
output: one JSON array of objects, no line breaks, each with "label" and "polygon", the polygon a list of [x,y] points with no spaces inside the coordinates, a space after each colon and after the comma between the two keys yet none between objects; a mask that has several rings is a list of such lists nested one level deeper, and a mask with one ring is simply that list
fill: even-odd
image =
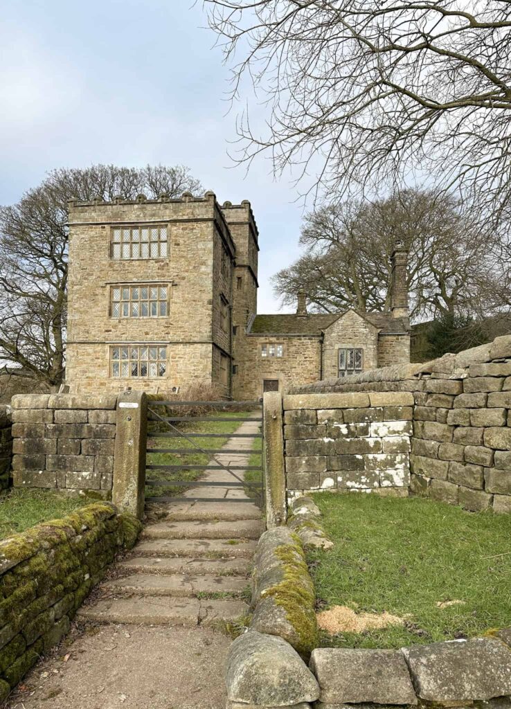
[{"label": "bare overhanging branches against the sky at top right", "polygon": [[203,1],[232,96],[248,74],[267,102],[260,131],[240,116],[240,160],[269,151],[339,199],[433,174],[510,211],[510,2]]}]

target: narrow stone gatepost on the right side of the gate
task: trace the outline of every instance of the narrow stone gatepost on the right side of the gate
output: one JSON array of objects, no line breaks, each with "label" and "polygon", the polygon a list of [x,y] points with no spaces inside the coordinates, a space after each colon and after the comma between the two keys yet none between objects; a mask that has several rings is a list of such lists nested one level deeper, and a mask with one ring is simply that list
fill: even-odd
[{"label": "narrow stone gatepost on the right side of the gate", "polygon": [[266,528],[286,524],[286,469],[282,394],[266,391],[263,396],[264,487],[266,491]]}]

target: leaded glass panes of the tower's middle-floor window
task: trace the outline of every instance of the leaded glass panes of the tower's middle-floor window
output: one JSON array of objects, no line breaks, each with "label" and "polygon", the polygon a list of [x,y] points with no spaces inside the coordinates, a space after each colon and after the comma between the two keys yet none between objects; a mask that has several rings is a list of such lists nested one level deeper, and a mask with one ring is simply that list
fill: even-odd
[{"label": "leaded glass panes of the tower's middle-floor window", "polygon": [[112,318],[164,318],[169,314],[168,286],[130,284],[111,286]]}]

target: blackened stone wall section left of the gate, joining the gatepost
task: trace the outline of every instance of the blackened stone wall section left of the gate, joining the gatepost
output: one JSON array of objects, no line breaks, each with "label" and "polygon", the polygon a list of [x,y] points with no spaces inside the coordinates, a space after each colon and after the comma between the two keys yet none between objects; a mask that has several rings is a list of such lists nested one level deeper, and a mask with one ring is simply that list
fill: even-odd
[{"label": "blackened stone wall section left of the gate, joining the gatepost", "polygon": [[110,497],[116,403],[115,394],[13,396],[14,486]]}]

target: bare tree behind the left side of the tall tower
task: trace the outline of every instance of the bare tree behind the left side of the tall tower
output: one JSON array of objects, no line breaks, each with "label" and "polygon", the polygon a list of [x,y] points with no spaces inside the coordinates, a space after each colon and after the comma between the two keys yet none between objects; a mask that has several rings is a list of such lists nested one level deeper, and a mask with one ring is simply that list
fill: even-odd
[{"label": "bare tree behind the left side of the tall tower", "polygon": [[155,198],[197,193],[182,166],[94,165],[57,169],[12,206],[0,208],[0,374],[55,386],[65,366],[67,200]]}]

